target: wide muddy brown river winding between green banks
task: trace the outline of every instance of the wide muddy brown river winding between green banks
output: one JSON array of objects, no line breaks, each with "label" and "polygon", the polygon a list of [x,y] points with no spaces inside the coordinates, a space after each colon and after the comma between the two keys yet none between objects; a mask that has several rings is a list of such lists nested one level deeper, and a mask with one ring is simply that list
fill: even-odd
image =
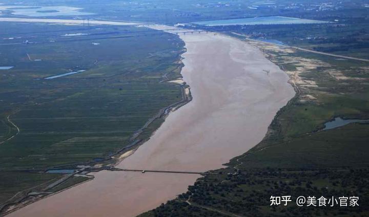
[{"label": "wide muddy brown river winding between green banks", "polygon": [[[255,146],[294,96],[288,76],[256,48],[214,33],[180,35],[193,100],[117,167],[207,171]],[[269,70],[266,73],[263,70]],[[101,171],[93,181],[9,216],[135,216],[185,192],[198,175]]]}]

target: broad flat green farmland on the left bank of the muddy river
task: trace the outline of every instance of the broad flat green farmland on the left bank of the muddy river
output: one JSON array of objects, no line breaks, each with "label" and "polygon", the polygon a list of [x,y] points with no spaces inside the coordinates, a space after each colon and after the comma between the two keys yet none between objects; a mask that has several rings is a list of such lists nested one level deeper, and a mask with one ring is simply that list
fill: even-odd
[{"label": "broad flat green farmland on the left bank of the muddy river", "polygon": [[[0,66],[14,66],[0,71],[1,170],[98,162],[129,145],[161,108],[181,100],[179,85],[163,78],[180,77],[178,36],[135,27],[1,23],[0,28],[6,30],[0,33]],[[63,36],[73,33],[85,34]],[[85,71],[44,79],[78,70]],[[150,126],[140,138],[155,129]],[[20,180],[31,186],[24,174]]]}]

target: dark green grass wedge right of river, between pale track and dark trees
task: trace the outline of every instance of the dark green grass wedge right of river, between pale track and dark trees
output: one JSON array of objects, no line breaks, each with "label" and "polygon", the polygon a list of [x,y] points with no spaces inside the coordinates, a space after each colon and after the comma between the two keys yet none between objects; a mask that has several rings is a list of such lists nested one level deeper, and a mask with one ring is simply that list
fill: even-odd
[{"label": "dark green grass wedge right of river, between pale track and dark trees", "polygon": [[[343,127],[299,136],[286,142],[250,152],[241,168],[341,168],[369,166],[369,124]],[[231,165],[236,162],[231,163]]]}]

